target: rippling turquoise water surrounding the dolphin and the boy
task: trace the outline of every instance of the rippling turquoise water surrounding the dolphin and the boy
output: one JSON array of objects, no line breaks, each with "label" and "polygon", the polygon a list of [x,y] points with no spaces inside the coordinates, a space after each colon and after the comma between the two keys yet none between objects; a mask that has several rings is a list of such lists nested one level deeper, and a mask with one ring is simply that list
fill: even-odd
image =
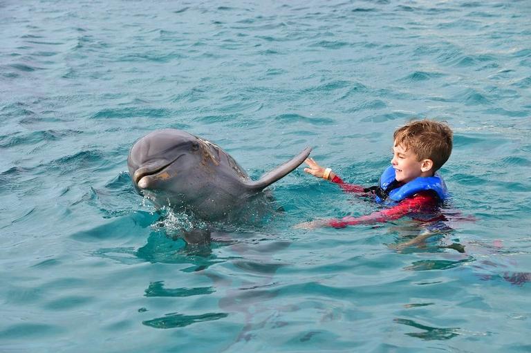
[{"label": "rippling turquoise water surrounding the dolphin and the boy", "polygon": [[[0,350],[531,350],[530,17],[529,1],[0,1]],[[270,188],[284,211],[188,246],[188,220],[127,174],[133,142],[173,127],[253,178],[313,146],[373,184],[414,117],[455,131],[444,227],[292,229],[375,210],[299,168]]]}]

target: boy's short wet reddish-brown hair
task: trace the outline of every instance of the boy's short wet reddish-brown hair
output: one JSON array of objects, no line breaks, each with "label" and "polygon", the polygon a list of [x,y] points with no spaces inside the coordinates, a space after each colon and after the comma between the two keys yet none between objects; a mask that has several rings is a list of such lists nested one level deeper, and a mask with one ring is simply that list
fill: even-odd
[{"label": "boy's short wet reddish-brown hair", "polygon": [[393,137],[395,146],[411,149],[419,162],[432,160],[434,171],[437,171],[450,157],[453,135],[447,124],[426,119],[398,128]]}]

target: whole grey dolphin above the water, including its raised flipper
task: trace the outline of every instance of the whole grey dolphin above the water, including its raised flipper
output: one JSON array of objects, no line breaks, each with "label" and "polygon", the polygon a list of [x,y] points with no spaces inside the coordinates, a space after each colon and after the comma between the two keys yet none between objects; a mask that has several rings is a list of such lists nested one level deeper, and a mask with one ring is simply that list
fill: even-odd
[{"label": "whole grey dolphin above the water, including its raised flipper", "polygon": [[153,131],[133,144],[127,166],[136,190],[156,207],[189,209],[205,220],[220,220],[288,175],[311,151],[307,147],[254,181],[216,144],[168,128]]}]

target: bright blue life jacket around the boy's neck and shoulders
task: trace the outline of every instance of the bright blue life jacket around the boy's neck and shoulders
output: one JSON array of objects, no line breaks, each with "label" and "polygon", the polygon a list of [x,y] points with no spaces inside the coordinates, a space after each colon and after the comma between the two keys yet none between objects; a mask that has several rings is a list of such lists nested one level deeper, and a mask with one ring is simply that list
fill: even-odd
[{"label": "bright blue life jacket around the boy's neck and shoulders", "polygon": [[393,169],[393,166],[388,166],[380,177],[379,187],[370,188],[371,191],[375,192],[375,201],[382,203],[389,198],[391,202],[400,202],[404,198],[409,198],[420,191],[427,190],[435,191],[440,201],[448,198],[446,184],[438,173],[435,173],[432,177],[415,178],[402,186],[398,186],[397,183],[395,169]]}]

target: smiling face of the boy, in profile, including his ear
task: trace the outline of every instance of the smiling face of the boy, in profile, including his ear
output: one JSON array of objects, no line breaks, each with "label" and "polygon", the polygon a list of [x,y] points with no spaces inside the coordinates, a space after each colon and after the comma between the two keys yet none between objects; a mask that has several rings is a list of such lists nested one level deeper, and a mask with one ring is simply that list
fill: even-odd
[{"label": "smiling face of the boy, in profile, including his ear", "polygon": [[401,144],[393,146],[393,159],[391,164],[395,169],[395,179],[398,182],[411,182],[420,176],[431,176],[431,160],[417,160],[417,156]]}]

